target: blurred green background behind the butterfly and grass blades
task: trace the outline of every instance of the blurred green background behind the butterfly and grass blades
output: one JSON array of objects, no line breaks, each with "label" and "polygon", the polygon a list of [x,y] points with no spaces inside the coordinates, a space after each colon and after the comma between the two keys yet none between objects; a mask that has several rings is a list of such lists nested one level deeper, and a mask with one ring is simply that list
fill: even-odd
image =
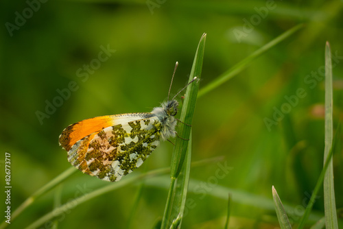
[{"label": "blurred green background behind the butterfly and grass blades", "polygon": [[[230,172],[218,178],[217,162],[191,169],[187,197],[193,202],[182,221],[183,228],[223,228],[230,189],[230,228],[275,228],[274,185],[283,203],[294,207],[289,218],[296,225],[322,169],[321,74],[327,40],[335,57],[334,126],[343,115],[343,1],[5,0],[0,5],[0,161],[3,168],[10,152],[12,210],[71,167],[58,145],[67,125],[101,115],[150,112],[167,99],[176,61],[171,93],[182,88],[204,32],[200,88],[305,23],[198,99],[192,160],[223,156],[220,163]],[[111,51],[105,55],[104,49]],[[57,105],[47,108],[49,103]],[[167,167],[172,148],[161,143],[135,173]],[[337,208],[343,206],[342,164],[338,147],[333,156]],[[3,174],[1,169],[1,184]],[[60,187],[61,201],[107,184],[77,172]],[[167,175],[148,180],[133,215],[139,184],[76,206],[58,217],[59,227],[152,228],[163,215],[168,184]],[[8,228],[24,228],[53,210],[54,193],[29,206]],[[312,223],[324,215],[323,208],[320,193]]]}]

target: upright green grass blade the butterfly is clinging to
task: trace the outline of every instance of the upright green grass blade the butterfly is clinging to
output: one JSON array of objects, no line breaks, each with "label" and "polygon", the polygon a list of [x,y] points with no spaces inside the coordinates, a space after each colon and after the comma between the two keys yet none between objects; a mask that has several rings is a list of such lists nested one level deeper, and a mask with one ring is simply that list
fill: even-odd
[{"label": "upright green grass blade the butterfly is clinging to", "polygon": [[[162,219],[162,226],[161,228],[167,228],[167,224],[169,224],[170,214],[171,214],[171,200],[174,196],[174,184],[176,178],[178,178],[178,174],[182,168],[183,160],[185,159],[188,141],[185,139],[189,139],[189,134],[191,132],[191,123],[193,119],[194,109],[196,107],[196,98],[198,95],[198,88],[199,82],[201,77],[201,70],[202,70],[202,60],[204,57],[204,45],[206,40],[206,34],[202,34],[200,38],[200,42],[198,44],[198,48],[196,50],[196,56],[194,57],[191,74],[189,75],[189,82],[193,80],[194,77],[197,77],[198,80],[189,84],[187,87],[185,101],[182,106],[180,121],[185,123],[183,125],[178,126],[178,136],[180,138],[176,138],[176,143],[173,151],[173,155],[171,156],[171,165],[170,165],[170,186],[167,196],[167,203],[165,204],[165,213],[163,214]],[[183,138],[183,139],[182,139]]]}]

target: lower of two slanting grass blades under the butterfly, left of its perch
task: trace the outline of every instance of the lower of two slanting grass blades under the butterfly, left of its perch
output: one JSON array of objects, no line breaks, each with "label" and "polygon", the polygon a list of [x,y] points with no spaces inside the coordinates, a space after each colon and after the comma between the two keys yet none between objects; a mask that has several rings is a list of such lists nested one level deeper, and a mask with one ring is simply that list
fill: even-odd
[{"label": "lower of two slanting grass blades under the butterfly, left of its perch", "polygon": [[[100,189],[97,189],[95,191],[92,191],[91,193],[87,193],[85,195],[82,195],[81,197],[75,198],[66,204],[61,205],[58,208],[55,208],[54,210],[51,210],[51,212],[43,215],[36,221],[34,221],[32,224],[27,226],[26,229],[34,229],[38,228],[40,225],[44,224],[46,221],[49,221],[51,219],[54,219],[55,217],[58,217],[62,213],[65,213],[76,206],[79,206],[80,204],[83,204],[84,202],[87,202],[88,200],[92,200],[95,197],[98,197],[100,195],[104,195],[105,193],[108,193],[110,191],[113,191],[115,189],[119,189],[123,186],[126,186],[128,184],[132,184],[134,182],[137,182],[137,180],[147,179],[154,176],[159,176],[163,173],[167,173],[169,171],[169,168],[163,168],[163,169],[155,169],[153,171],[149,171],[147,173],[141,174],[139,176],[130,176],[126,179],[121,180],[120,182],[115,182],[113,184],[109,184],[107,186],[104,186]],[[133,174],[132,174],[133,175]]]}]

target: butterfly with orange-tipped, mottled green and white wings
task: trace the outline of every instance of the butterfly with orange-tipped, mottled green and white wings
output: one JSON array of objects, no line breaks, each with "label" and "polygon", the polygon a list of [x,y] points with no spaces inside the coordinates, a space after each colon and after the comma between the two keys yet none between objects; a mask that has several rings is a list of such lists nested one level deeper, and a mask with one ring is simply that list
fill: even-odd
[{"label": "butterfly with orange-tipped, mottled green and white wings", "polygon": [[[171,84],[177,66],[178,62]],[[178,101],[174,98],[181,91],[171,100],[168,93],[168,100],[149,113],[107,115],[69,125],[59,138],[69,162],[82,173],[110,182],[120,180],[140,167],[161,139],[176,135]]]}]

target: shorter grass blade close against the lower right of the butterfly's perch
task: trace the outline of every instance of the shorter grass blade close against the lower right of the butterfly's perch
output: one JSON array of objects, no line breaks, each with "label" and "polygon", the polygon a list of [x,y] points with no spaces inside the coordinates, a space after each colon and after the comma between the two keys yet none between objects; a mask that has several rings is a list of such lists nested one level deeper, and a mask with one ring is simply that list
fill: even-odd
[{"label": "shorter grass blade close against the lower right of the butterfly's perch", "polygon": [[187,198],[189,173],[191,172],[191,134],[189,135],[188,149],[186,160],[182,166],[180,176],[176,179],[176,189],[174,192],[173,202],[171,203],[171,228],[181,228],[185,203]]}]

